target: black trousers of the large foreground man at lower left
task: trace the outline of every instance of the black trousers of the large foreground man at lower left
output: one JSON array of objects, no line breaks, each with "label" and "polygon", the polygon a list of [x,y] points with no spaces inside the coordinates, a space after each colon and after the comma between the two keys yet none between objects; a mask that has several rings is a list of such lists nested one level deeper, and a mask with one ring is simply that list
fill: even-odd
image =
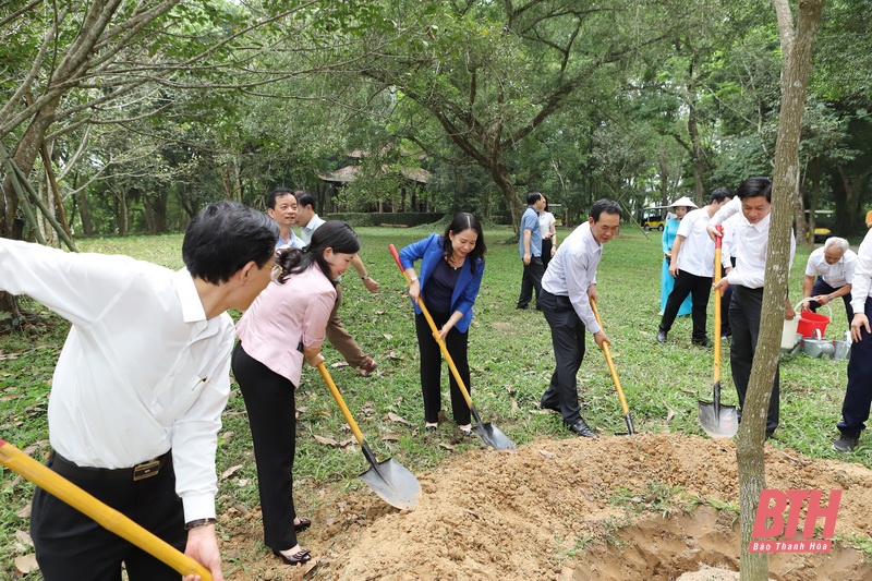
[{"label": "black trousers of the large foreground man at lower left", "polygon": [[[119,480],[118,471],[77,468],[56,453],[48,467],[184,552],[187,531],[182,501],[175,495],[172,455],[157,475],[140,481]],[[46,581],[120,581],[122,562],[131,581],[180,579],[168,565],[39,487],[34,494],[31,536]]]}]

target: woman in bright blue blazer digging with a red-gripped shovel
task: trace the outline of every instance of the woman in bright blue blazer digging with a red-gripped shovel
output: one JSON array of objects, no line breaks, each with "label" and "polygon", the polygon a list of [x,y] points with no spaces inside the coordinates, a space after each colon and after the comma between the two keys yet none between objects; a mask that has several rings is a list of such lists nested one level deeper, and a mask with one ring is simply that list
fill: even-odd
[{"label": "woman in bright blue blazer digging with a red-gripped shovel", "polygon": [[[427,432],[439,425],[441,352],[433,331],[417,306],[417,298],[433,316],[439,337],[445,340],[460,377],[470,386],[470,365],[467,359],[468,334],[472,322],[472,305],[479,295],[484,274],[482,225],[472,214],[461,211],[451,220],[445,233],[431,234],[400,251],[400,264],[412,281],[409,295],[415,307],[415,330],[421,350],[421,390],[424,394],[424,422]],[[421,278],[415,261],[421,259]],[[472,429],[470,408],[449,373],[451,410],[455,422],[469,435]]]}]

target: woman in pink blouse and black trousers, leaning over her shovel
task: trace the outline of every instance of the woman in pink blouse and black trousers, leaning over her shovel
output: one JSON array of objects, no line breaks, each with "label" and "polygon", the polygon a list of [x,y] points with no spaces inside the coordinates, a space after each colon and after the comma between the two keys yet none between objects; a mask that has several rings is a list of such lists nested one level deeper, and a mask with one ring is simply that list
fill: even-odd
[{"label": "woman in pink blouse and black trousers, leaning over her shovel", "polygon": [[237,325],[232,366],[254,441],[264,544],[288,565],[312,558],[296,541],[312,521],[298,517],[293,506],[294,390],[303,360],[313,367],[324,361],[320,348],[336,302],[332,281],[360,247],[347,223],[329,220],[305,249],[279,249],[272,282]]}]

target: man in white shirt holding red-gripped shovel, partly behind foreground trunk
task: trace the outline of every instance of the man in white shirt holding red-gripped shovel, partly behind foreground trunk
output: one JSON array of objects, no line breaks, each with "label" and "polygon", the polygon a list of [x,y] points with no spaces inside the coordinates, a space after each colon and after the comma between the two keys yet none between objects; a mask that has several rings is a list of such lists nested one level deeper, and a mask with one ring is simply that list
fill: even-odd
[{"label": "man in white shirt holding red-gripped shovel, partly behind foreground trunk", "polygon": [[[760,335],[760,320],[763,311],[763,282],[766,273],[766,252],[770,245],[770,219],[772,211],[772,180],[768,178],[749,178],[736,191],[736,197],[720,208],[708,221],[708,232],[714,227],[740,211],[736,231],[736,267],[727,269],[716,288],[722,292],[732,285],[732,299],[729,303],[729,324],[732,329],[732,341],[729,349],[732,383],[739,395],[739,407],[744,404],[748,382],[751,378],[751,366]],[[790,263],[796,253],[796,240],[790,235]],[[784,317],[796,316],[789,301],[785,305]],[[772,385],[772,397],[766,417],[766,437],[771,437],[778,427],[779,376],[775,371]]]}]

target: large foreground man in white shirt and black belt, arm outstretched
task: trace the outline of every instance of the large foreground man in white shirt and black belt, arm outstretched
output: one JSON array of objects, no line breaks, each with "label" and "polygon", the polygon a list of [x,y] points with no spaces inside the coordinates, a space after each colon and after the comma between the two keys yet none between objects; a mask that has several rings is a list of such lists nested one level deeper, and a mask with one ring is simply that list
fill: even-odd
[{"label": "large foreground man in white shirt and black belt, arm outstretched", "polygon": [[[221,581],[215,455],[230,394],[233,320],[266,287],[278,227],[233,202],[187,227],[185,267],[0,239],[0,289],[72,323],[52,378],[48,465]],[[178,581],[179,573],[37,488],[31,517],[47,581]],[[187,579],[193,580],[190,576]]]}]

